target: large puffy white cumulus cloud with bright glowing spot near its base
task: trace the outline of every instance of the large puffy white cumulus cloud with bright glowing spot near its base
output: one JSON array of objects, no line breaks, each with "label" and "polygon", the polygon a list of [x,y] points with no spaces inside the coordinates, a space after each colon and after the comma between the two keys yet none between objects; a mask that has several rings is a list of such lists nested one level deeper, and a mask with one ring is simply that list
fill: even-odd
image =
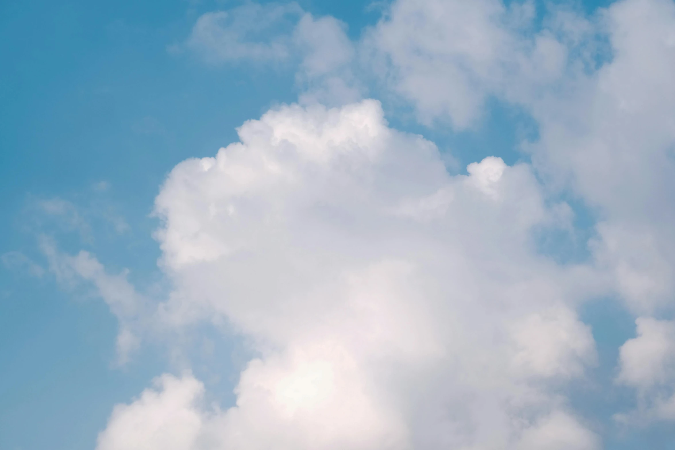
[{"label": "large puffy white cumulus cloud with bright glowing spot near its base", "polygon": [[595,362],[574,305],[597,287],[535,251],[533,227],[560,223],[531,167],[451,176],[376,101],[281,107],[239,136],[157,197],[161,316],[226,320],[259,357],[233,407],[165,376],[99,449],[161,448],[134,420],[158,405],[190,418],[184,449],[597,448],[564,396]]}]

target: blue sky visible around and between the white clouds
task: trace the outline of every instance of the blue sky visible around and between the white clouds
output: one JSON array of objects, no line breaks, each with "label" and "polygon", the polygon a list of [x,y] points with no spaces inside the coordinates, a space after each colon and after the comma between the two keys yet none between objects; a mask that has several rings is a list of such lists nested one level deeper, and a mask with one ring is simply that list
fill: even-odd
[{"label": "blue sky visible around and between the white clouds", "polygon": [[[630,1],[639,3],[623,3]],[[508,5],[512,3],[517,2]],[[571,4],[570,10],[597,24],[593,14],[611,3],[582,1]],[[659,7],[666,4],[667,9],[672,2],[647,3]],[[0,58],[5,61],[0,70],[0,210],[4,218],[0,223],[0,254],[4,255],[4,265],[0,266],[1,448],[92,449],[109,422],[113,405],[130,403],[152,385],[153,378],[165,372],[178,376],[186,367],[204,383],[208,399],[219,401],[225,410],[234,404],[232,389],[239,372],[251,354],[262,351],[246,344],[246,339],[258,339],[257,335],[236,331],[246,326],[237,325],[236,318],[225,314],[223,320],[234,323],[234,332],[228,329],[223,333],[220,325],[208,320],[175,331],[180,339],[167,338],[170,333],[153,335],[148,331],[150,337],[144,337],[129,362],[117,364],[117,318],[90,283],[59,281],[55,271],[49,269],[41,242],[45,238],[55,242],[63,254],[85,250],[95,255],[107,273],[129,269],[128,280],[135,289],[160,299],[157,302],[175,292],[180,283],[167,275],[173,269],[158,266],[163,250],[153,233],[161,225],[151,214],[167,174],[186,159],[213,157],[218,148],[239,140],[236,128],[242,123],[259,119],[279,105],[294,103],[306,91],[298,81],[300,72],[294,60],[274,64],[242,58],[209,63],[186,45],[203,14],[232,10],[242,4],[186,0],[161,4],[0,4]],[[372,29],[381,17],[391,18],[386,2],[298,4],[314,18],[332,16],[344,22],[346,35],[355,47],[362,42],[364,30]],[[553,13],[545,12],[543,3],[537,5],[539,19],[546,24]],[[545,26],[535,26],[529,32],[540,32]],[[262,30],[260,39],[273,40],[275,32]],[[602,52],[594,55],[598,61],[603,56]],[[544,203],[564,200],[576,213],[572,231],[545,232],[541,252],[560,261],[561,266],[580,261],[594,269],[603,264],[613,267],[612,262],[593,262],[595,256],[589,250],[593,247],[587,246],[587,240],[597,239],[594,227],[599,221],[611,222],[615,216],[633,213],[622,210],[615,214],[620,208],[614,206],[614,200],[589,188],[590,183],[560,188],[549,181],[556,178],[549,177],[556,161],[576,161],[571,154],[556,157],[553,153],[557,147],[546,144],[548,138],[540,134],[546,127],[556,129],[551,125],[555,114],[549,114],[549,109],[566,107],[566,103],[539,102],[539,98],[535,101],[530,97],[514,100],[518,93],[497,92],[501,88],[493,87],[488,80],[482,112],[470,126],[458,125],[452,113],[450,119],[440,114],[427,121],[414,88],[392,88],[388,83],[393,75],[378,78],[376,69],[367,73],[363,67],[354,69],[354,78],[360,78],[361,96],[373,96],[382,102],[389,127],[435,142],[450,175],[466,175],[468,164],[493,155],[508,166],[524,163],[529,167],[534,160],[533,178],[543,186]],[[512,80],[504,77],[504,84]],[[659,89],[660,85],[654,83]],[[497,84],[502,86],[502,82]],[[572,90],[572,84],[560,81],[551,92]],[[448,89],[456,92],[452,86]],[[570,98],[575,99],[574,95]],[[452,94],[448,99],[450,103],[455,101]],[[543,110],[546,112],[541,113]],[[524,150],[522,142],[551,150]],[[645,142],[649,145],[652,141]],[[560,163],[560,167],[563,165],[566,163]],[[648,177],[652,166],[645,167],[641,175],[631,179]],[[582,172],[579,169],[571,178],[582,179]],[[672,194],[670,185],[664,191],[666,202],[672,200],[668,197]],[[645,217],[641,226],[654,225],[657,231],[653,239],[667,241],[661,246],[670,248],[670,234],[657,227],[657,219],[650,222],[649,213]],[[620,220],[624,219],[616,219],[617,223]],[[668,215],[664,220],[667,225]],[[672,275],[670,256],[661,258],[666,276]],[[596,259],[602,260],[601,256]],[[647,266],[655,267],[653,264]],[[672,292],[664,287],[665,303],[641,310],[639,306],[633,308],[630,299],[642,294],[629,291],[624,295],[622,287],[593,289],[595,293],[587,295],[591,300],[572,301],[574,306],[570,308],[581,322],[592,327],[598,364],[589,364],[580,381],[570,382],[564,389],[551,389],[562,389],[568,396],[572,409],[600,437],[601,448],[638,448],[647,442],[653,449],[672,448],[669,446],[675,442],[675,433],[670,431],[672,422],[668,420],[621,428],[612,419],[614,414],[635,407],[634,389],[641,389],[628,382],[628,387],[614,383],[621,370],[617,364],[620,347],[636,336],[636,317],[672,318]],[[624,302],[622,296],[629,300]],[[176,339],[183,353],[172,347]],[[668,383],[664,382],[664,392],[672,388]],[[649,413],[645,411],[640,414],[646,417]]]}]

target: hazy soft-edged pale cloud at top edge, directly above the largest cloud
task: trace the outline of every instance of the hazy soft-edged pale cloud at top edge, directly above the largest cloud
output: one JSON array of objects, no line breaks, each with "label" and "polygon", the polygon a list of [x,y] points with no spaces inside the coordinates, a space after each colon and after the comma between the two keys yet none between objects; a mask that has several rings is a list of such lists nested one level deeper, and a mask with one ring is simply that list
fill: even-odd
[{"label": "hazy soft-edged pale cloud at top edge, directly above the largest cloud", "polygon": [[491,80],[514,39],[502,28],[498,0],[395,1],[367,38],[379,71],[430,123],[450,117],[466,128],[480,115]]}]

